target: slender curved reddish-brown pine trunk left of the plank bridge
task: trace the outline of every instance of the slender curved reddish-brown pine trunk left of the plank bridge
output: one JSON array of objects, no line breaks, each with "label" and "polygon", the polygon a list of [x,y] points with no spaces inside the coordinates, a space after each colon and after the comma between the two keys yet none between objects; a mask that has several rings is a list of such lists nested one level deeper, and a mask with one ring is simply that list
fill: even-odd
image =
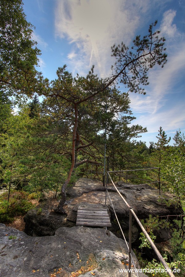
[{"label": "slender curved reddish-brown pine trunk left of the plank bridge", "polygon": [[75,142],[76,142],[76,131],[77,131],[77,127],[78,127],[78,110],[77,110],[76,104],[74,104],[74,109],[75,109],[75,124],[74,124],[73,133],[72,133],[72,163],[71,163],[71,168],[69,170],[68,178],[63,183],[62,188],[61,188],[62,198],[59,202],[58,207],[55,209],[56,212],[59,212],[62,214],[66,214],[66,212],[63,209],[64,203],[66,201],[66,192],[65,191],[66,191],[66,187],[71,179],[72,171],[75,166]]}]

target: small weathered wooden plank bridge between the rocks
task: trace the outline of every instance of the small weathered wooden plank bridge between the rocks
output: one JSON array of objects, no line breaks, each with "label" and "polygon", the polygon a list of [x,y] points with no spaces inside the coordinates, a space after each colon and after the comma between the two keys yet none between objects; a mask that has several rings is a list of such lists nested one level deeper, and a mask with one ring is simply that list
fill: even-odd
[{"label": "small weathered wooden plank bridge between the rocks", "polygon": [[79,207],[76,226],[111,227],[107,209],[95,207]]}]

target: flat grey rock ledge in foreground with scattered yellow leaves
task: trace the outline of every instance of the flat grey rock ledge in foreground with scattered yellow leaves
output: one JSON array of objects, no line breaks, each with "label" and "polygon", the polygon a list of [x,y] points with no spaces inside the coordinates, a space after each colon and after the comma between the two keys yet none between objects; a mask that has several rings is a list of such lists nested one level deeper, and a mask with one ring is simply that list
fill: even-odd
[{"label": "flat grey rock ledge in foreground with scattered yellow leaves", "polygon": [[[105,228],[61,227],[54,236],[30,237],[0,224],[2,277],[47,277],[55,269],[57,272],[58,268],[62,269],[56,276],[68,277],[71,272],[76,272],[82,266],[88,268],[88,265],[92,266],[91,270],[82,276],[95,273],[97,277],[126,277],[128,273],[120,273],[119,269],[127,269],[127,253],[125,241],[111,232],[107,233]],[[135,254],[132,255],[136,267],[140,268]],[[138,275],[146,276],[143,273]],[[135,276],[136,273],[133,273],[132,277]]]}]

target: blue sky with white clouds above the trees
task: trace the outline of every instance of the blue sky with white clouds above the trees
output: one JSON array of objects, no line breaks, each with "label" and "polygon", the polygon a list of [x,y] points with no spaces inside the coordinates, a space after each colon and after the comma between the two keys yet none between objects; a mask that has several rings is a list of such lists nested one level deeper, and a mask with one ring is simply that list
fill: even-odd
[{"label": "blue sky with white clouds above the trees", "polygon": [[[59,66],[85,76],[92,64],[106,77],[114,62],[110,47],[130,46],[147,34],[150,23],[166,38],[168,62],[149,70],[146,95],[130,93],[133,124],[147,127],[142,141],[156,142],[159,127],[171,138],[185,133],[185,1],[184,0],[23,0],[33,39],[42,51],[39,71],[50,80]],[[121,91],[127,91],[120,86]],[[173,140],[171,139],[171,145]]]}]

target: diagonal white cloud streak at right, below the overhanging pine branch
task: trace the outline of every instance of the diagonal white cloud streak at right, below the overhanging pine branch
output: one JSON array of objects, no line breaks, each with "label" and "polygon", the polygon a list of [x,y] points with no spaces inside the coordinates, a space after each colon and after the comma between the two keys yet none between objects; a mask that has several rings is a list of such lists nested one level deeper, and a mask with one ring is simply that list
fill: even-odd
[{"label": "diagonal white cloud streak at right, below the overhanging pine branch", "polygon": [[[147,112],[155,116],[163,106],[165,106],[168,97],[175,91],[173,87],[178,82],[184,72],[184,42],[174,46],[173,55],[169,55],[168,62],[164,68],[155,67],[149,72],[150,85],[146,87],[147,94],[141,96],[131,94],[131,108],[134,112]],[[176,99],[175,99],[176,100]]]}]

